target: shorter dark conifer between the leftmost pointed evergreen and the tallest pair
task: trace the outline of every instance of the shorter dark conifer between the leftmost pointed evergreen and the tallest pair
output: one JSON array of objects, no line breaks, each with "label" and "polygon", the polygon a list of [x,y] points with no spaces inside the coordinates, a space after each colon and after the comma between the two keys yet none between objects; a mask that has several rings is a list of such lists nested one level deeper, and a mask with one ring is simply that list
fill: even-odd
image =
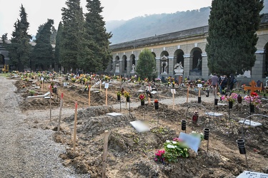
[{"label": "shorter dark conifer between the leftmost pointed evergreen and the tallest pair", "polygon": [[35,66],[34,68],[47,70],[52,61],[54,61],[52,52],[53,48],[50,41],[53,23],[53,20],[48,19],[47,22],[42,26],[41,30],[39,28],[39,35],[36,35],[36,45],[34,46],[31,60],[32,65]]}]

